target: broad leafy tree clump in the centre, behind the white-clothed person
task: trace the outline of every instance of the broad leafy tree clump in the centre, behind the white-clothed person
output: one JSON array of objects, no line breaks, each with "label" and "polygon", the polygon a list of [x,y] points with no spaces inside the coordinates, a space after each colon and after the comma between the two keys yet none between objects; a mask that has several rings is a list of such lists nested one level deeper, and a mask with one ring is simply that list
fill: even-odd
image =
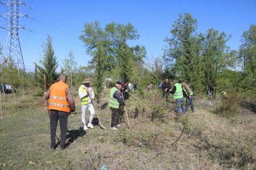
[{"label": "broad leafy tree clump in the centre, behind the white-clothed person", "polygon": [[86,45],[86,52],[93,56],[92,60],[89,61],[90,67],[96,68],[98,61],[96,59],[98,54],[96,55],[96,53],[101,50],[103,77],[107,78],[111,75],[110,78],[114,81],[120,77],[134,77],[134,72],[131,71],[134,70],[134,67],[138,67],[139,64],[143,63],[146,49],[140,45],[135,47],[127,45],[128,40],[139,38],[137,30],[130,23],[124,25],[113,22],[106,24],[103,29],[100,27],[100,23],[96,21],[85,24],[83,32],[84,34],[80,36],[80,39]]}]

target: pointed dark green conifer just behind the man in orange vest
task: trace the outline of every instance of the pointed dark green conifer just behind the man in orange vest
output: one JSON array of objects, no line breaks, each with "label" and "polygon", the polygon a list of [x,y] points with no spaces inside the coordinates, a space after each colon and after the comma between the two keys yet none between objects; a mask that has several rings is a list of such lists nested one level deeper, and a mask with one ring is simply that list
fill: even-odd
[{"label": "pointed dark green conifer just behind the man in orange vest", "polygon": [[53,83],[58,80],[56,69],[58,67],[57,57],[52,46],[52,38],[48,36],[47,43],[43,45],[43,59],[39,61],[41,65],[35,64],[35,72],[33,74],[34,80],[37,81],[36,85],[44,89],[44,74],[46,74],[46,86],[49,88]]}]

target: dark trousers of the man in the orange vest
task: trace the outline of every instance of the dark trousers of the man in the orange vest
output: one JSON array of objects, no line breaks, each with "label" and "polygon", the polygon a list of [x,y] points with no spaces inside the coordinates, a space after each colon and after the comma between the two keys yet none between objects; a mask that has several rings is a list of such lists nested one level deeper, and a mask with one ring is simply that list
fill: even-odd
[{"label": "dark trousers of the man in the orange vest", "polygon": [[51,147],[55,147],[56,141],[56,128],[58,120],[60,119],[60,147],[65,147],[67,126],[68,126],[68,115],[69,113],[59,110],[51,110],[50,114],[50,125],[51,125]]}]

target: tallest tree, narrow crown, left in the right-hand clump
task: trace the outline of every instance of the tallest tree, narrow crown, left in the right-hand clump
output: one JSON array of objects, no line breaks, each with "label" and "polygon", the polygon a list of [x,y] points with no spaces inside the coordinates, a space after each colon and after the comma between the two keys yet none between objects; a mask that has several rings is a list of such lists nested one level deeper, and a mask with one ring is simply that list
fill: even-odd
[{"label": "tallest tree, narrow crown, left in the right-hand clump", "polygon": [[197,20],[193,19],[191,14],[179,14],[179,19],[172,25],[172,37],[166,38],[165,41],[169,47],[164,51],[164,59],[175,72],[175,76],[181,78],[188,84],[192,82],[193,72],[200,70],[196,57],[200,51],[200,40],[196,35]]}]

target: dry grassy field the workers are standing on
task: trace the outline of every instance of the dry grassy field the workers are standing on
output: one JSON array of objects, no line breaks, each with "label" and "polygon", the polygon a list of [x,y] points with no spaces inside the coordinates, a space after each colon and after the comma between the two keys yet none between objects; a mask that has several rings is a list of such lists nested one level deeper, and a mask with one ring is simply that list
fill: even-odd
[{"label": "dry grassy field the workers are standing on", "polygon": [[106,91],[104,107],[96,111],[107,129],[84,131],[74,96],[77,114],[68,119],[69,148],[54,152],[45,99],[29,93],[23,101],[18,94],[14,104],[12,94],[2,96],[0,169],[256,169],[256,114],[250,110],[240,108],[226,118],[214,114],[220,100],[195,98],[196,112],[176,118],[172,99],[163,102],[160,94],[144,92],[141,101],[150,109],[130,97],[131,129],[124,115],[122,127],[113,131]]}]

